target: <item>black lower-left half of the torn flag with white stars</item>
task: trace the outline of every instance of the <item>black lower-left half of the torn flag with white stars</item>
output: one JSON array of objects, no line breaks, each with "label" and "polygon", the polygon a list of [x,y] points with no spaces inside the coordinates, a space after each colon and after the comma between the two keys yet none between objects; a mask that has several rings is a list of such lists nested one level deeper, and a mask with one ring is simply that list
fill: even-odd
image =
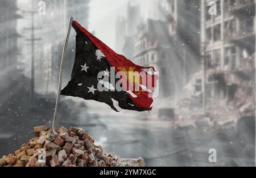
[{"label": "black lower-left half of the torn flag with white stars", "polygon": [[[150,108],[137,107],[126,91],[98,91],[97,86],[100,79],[98,73],[104,71],[104,79],[109,77],[110,65],[108,59],[93,44],[79,27],[73,22],[76,30],[76,56],[72,70],[71,80],[67,86],[61,90],[61,95],[75,96],[85,100],[96,100],[108,104],[114,111],[113,100],[118,101],[118,106],[122,109],[134,111],[148,111]],[[115,79],[115,83],[119,79]],[[103,86],[103,84],[102,84]],[[110,86],[110,85],[109,85]],[[105,86],[104,86],[105,87]]]}]

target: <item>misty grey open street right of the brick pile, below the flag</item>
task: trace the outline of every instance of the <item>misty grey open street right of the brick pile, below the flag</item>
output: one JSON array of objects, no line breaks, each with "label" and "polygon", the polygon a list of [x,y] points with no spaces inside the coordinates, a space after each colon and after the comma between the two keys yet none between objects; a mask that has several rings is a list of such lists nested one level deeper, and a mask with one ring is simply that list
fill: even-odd
[{"label": "misty grey open street right of the brick pile, below the flag", "polygon": [[[254,165],[253,157],[242,155],[243,148],[234,138],[223,139],[216,129],[177,128],[170,120],[140,117],[132,112],[117,115],[106,110],[105,105],[88,102],[93,112],[83,112],[79,122],[65,124],[79,123],[76,126],[93,135],[97,145],[121,158],[142,156],[146,166]],[[217,150],[216,163],[208,160],[210,149]]]}]

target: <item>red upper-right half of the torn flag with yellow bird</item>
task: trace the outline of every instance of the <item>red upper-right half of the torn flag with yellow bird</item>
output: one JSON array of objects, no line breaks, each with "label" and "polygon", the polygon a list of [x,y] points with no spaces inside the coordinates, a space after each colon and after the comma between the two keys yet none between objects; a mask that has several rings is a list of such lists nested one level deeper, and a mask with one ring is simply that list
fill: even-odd
[{"label": "red upper-right half of the torn flag with yellow bird", "polygon": [[[101,40],[97,39],[97,37],[93,36],[75,20],[73,20],[73,24],[75,24],[94,43],[94,45],[96,45],[96,47],[101,50],[101,52],[109,61],[110,65],[115,67],[116,73],[119,71],[123,71],[125,73],[127,71],[141,73],[143,69],[153,69],[155,71],[154,67],[139,66],[128,60],[125,56],[115,53],[114,50],[110,49],[109,46],[104,44]],[[150,75],[146,73],[146,78],[150,78],[149,82],[147,81],[146,83],[146,87],[148,88],[149,91],[143,90],[144,88],[142,89],[140,84],[138,84],[139,91],[133,90],[135,91],[133,92],[133,94],[135,94],[136,96],[131,95],[130,93],[128,93],[128,95],[131,98],[131,100],[133,100],[134,104],[137,105],[137,107],[150,108],[149,110],[151,110],[151,104],[153,102],[153,99],[150,96],[152,95],[151,91],[154,91],[154,88],[156,87],[156,80],[158,80],[158,75]],[[129,80],[129,77],[126,77],[125,79],[122,79],[122,83],[125,84],[125,82],[131,83],[133,81]],[[133,86],[136,87],[135,85]]]}]

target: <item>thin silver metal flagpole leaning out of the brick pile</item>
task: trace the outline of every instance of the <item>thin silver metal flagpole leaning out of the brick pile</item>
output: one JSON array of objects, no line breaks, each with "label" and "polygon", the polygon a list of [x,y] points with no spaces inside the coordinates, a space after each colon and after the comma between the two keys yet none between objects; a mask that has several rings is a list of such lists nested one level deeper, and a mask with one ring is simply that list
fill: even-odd
[{"label": "thin silver metal flagpole leaning out of the brick pile", "polygon": [[69,38],[70,31],[71,31],[72,23],[73,23],[73,18],[71,17],[69,19],[68,32],[67,32],[67,36],[66,36],[66,39],[65,39],[65,44],[64,44],[64,47],[63,47],[63,52],[62,52],[61,62],[60,62],[59,86],[58,86],[57,99],[56,99],[55,110],[54,110],[54,117],[53,117],[53,122],[52,122],[52,129],[53,130],[55,129],[56,118],[57,118],[57,110],[58,110],[58,105],[59,105],[59,101],[60,101],[63,61],[64,61],[65,53],[66,53],[66,50],[67,50],[68,38]]}]

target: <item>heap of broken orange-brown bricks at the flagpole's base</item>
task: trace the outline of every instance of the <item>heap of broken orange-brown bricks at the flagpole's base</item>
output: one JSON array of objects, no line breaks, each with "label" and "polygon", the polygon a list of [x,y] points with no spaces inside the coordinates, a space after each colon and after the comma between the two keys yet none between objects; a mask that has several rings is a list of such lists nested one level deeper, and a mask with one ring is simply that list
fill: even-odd
[{"label": "heap of broken orange-brown bricks at the flagpole's base", "polygon": [[102,146],[94,144],[94,139],[80,128],[60,127],[58,133],[43,126],[34,128],[35,138],[23,144],[14,154],[3,156],[0,166],[19,167],[105,167],[144,166],[144,160],[120,159],[107,153]]}]

